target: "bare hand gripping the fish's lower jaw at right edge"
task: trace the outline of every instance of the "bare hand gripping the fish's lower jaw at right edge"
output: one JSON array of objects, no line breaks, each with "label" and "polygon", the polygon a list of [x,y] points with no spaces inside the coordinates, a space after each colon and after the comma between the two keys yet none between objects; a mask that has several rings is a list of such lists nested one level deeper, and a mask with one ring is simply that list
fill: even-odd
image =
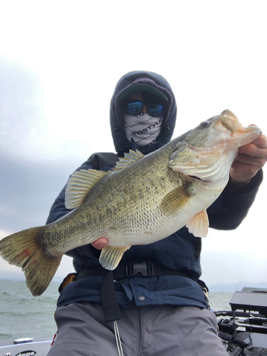
[{"label": "bare hand gripping the fish's lower jaw at right edge", "polygon": [[267,137],[261,135],[255,141],[239,148],[239,154],[230,170],[230,186],[236,191],[244,189],[266,161]]}]

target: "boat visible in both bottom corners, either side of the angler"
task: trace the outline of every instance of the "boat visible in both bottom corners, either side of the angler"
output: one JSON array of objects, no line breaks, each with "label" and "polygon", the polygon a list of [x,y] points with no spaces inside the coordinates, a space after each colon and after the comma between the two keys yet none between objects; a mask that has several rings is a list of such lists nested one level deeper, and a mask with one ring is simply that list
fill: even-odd
[{"label": "boat visible in both bottom corners, either side of the angler", "polygon": [[[267,355],[267,289],[243,288],[229,302],[231,310],[217,310],[218,335],[231,356]],[[46,356],[52,340],[14,340],[0,346],[0,356]]]}]

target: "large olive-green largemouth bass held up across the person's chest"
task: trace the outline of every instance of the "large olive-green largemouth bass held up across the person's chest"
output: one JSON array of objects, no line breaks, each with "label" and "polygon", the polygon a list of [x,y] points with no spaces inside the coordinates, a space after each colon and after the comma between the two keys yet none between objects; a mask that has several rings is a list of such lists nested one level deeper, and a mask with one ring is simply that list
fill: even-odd
[{"label": "large olive-green largemouth bass held up across the person's chest", "polygon": [[184,226],[196,238],[209,229],[206,209],[229,181],[239,147],[261,135],[224,110],[149,155],[130,151],[110,172],[81,169],[66,186],[70,213],[6,236],[0,255],[24,271],[33,296],[51,283],[64,253],[100,237],[99,262],[114,270],[132,245],[152,244]]}]

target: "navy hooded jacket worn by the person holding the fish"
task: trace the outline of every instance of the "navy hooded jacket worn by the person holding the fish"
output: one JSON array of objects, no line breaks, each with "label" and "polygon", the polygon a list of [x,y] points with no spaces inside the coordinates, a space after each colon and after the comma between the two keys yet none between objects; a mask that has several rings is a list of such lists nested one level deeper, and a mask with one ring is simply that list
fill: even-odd
[{"label": "navy hooded jacket worn by the person holding the fish", "polygon": [[[124,90],[137,84],[147,84],[166,95],[167,108],[164,111],[162,127],[156,142],[147,147],[138,147],[125,136],[122,125],[122,110],[120,95]],[[108,172],[115,166],[118,157],[123,157],[129,150],[140,150],[147,154],[166,145],[172,138],[177,115],[177,105],[174,93],[167,80],[161,75],[145,71],[133,71],[124,75],[117,83],[110,103],[110,127],[116,154],[101,152],[91,155],[78,169],[100,169]],[[212,204],[207,213],[210,227],[214,229],[236,229],[248,213],[248,209],[256,197],[256,192],[262,180],[259,171],[241,194],[226,187],[221,196]],[[56,221],[69,212],[65,207],[65,188],[51,207],[47,224]],[[193,278],[201,276],[200,266],[201,239],[189,233],[186,227],[166,239],[146,246],[132,246],[122,257],[122,262],[154,261],[163,268],[183,271]],[[100,266],[98,258],[100,251],[92,245],[81,246],[66,253],[73,257],[73,266],[77,273],[84,269]],[[101,303],[100,289],[103,282],[101,276],[90,276],[80,281],[69,283],[61,291],[58,306],[69,303],[89,301]],[[207,308],[207,300],[198,283],[183,276],[152,276],[125,278],[116,286],[117,300],[120,305],[127,307],[134,299],[137,305],[193,305]],[[140,298],[142,297],[142,298]]]}]

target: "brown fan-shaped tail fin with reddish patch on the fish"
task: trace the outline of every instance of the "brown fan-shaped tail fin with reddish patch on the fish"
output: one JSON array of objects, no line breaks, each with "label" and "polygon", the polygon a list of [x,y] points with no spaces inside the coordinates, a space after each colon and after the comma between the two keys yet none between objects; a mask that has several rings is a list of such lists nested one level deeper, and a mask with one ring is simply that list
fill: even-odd
[{"label": "brown fan-shaped tail fin with reddish patch on the fish", "polygon": [[43,226],[33,227],[0,241],[0,256],[10,264],[21,267],[34,297],[46,290],[62,258],[48,256],[41,248],[39,241],[44,229]]}]

